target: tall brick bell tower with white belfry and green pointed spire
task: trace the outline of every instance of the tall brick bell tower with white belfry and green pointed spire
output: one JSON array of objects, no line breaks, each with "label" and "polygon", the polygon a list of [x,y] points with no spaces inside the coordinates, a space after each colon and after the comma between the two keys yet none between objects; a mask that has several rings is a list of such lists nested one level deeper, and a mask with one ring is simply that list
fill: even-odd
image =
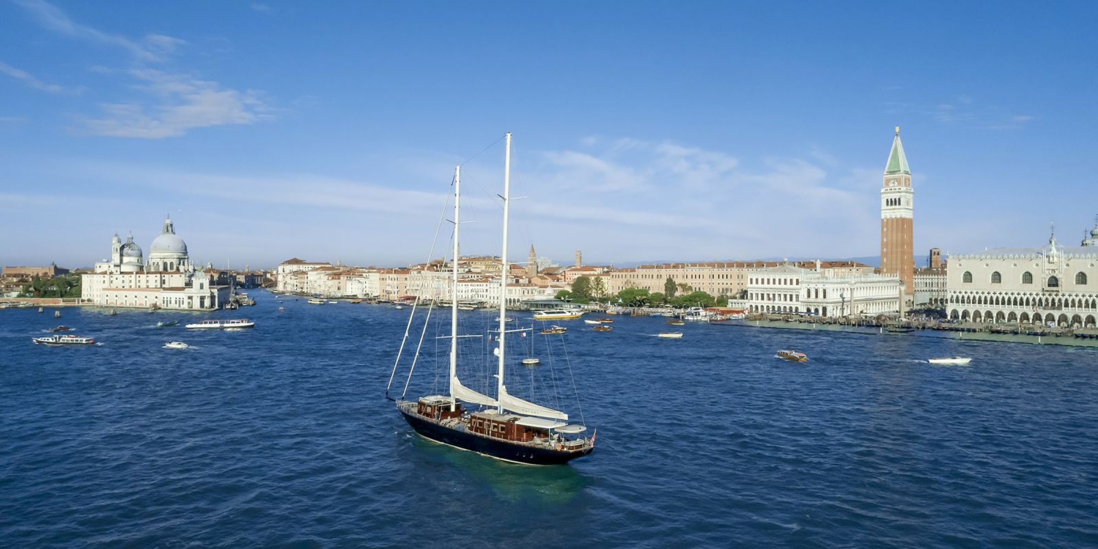
[{"label": "tall brick bell tower with white belfry and green pointed spire", "polygon": [[915,292],[914,212],[911,170],[907,167],[904,145],[899,141],[899,126],[896,126],[896,137],[885,166],[884,187],[881,188],[881,272],[898,276],[904,282],[905,309]]}]

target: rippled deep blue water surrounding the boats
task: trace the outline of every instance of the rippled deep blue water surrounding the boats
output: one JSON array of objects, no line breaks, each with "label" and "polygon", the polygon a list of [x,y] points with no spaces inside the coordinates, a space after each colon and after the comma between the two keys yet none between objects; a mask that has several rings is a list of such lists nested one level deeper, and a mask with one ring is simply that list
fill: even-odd
[{"label": "rippled deep blue water surrounding the boats", "polygon": [[[407,311],[256,295],[243,332],[0,311],[0,545],[1098,547],[1095,349],[570,321],[595,452],[531,468],[383,399]],[[61,322],[101,345],[31,344]]]}]

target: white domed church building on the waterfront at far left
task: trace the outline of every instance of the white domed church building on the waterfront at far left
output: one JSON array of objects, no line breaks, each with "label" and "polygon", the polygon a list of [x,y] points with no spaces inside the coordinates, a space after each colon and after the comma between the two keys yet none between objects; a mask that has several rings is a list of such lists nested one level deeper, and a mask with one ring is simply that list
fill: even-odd
[{"label": "white domed church building on the waterfront at far left", "polygon": [[92,305],[189,311],[220,309],[231,290],[214,285],[210,274],[191,264],[170,216],[149,246],[147,262],[133,235],[123,243],[115,234],[111,259],[96,264],[81,285],[81,299]]}]

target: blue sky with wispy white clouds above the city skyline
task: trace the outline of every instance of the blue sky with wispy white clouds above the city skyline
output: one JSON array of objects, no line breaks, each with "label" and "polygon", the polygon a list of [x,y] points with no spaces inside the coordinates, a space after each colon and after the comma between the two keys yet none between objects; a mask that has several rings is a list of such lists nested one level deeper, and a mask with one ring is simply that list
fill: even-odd
[{"label": "blue sky with wispy white clouds above the city skyline", "polygon": [[[876,255],[895,125],[920,254],[1075,245],[1096,5],[0,1],[0,264],[166,213],[217,266],[421,261],[507,131],[520,258]],[[463,253],[497,253],[502,157],[463,168]]]}]

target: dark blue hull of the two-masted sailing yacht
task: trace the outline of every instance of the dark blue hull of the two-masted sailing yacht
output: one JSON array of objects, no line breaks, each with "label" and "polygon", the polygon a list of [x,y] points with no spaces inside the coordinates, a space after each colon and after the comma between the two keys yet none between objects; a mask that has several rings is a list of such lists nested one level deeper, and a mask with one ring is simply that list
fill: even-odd
[{"label": "dark blue hull of the two-masted sailing yacht", "polygon": [[575,458],[582,458],[594,449],[589,446],[582,450],[567,451],[548,448],[536,448],[518,442],[498,440],[464,430],[451,429],[435,422],[406,413],[397,408],[408,425],[419,435],[436,442],[450,445],[462,450],[474,451],[496,459],[526,463],[530,466],[560,466]]}]

